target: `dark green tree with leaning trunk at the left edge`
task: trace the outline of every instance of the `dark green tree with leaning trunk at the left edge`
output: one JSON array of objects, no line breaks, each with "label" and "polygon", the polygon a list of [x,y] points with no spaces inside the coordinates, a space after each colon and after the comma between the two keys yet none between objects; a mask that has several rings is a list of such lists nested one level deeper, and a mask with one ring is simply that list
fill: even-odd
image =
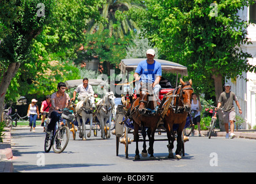
[{"label": "dark green tree with leaning trunk at the left edge", "polygon": [[0,114],[10,81],[31,59],[31,46],[51,16],[53,0],[0,3]]}]

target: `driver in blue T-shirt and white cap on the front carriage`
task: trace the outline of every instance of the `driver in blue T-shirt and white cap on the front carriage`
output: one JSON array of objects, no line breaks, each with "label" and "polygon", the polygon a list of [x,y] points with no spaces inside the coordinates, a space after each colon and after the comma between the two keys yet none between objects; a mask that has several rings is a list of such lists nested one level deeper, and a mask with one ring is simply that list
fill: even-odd
[{"label": "driver in blue T-shirt and white cap on the front carriage", "polygon": [[155,51],[153,49],[148,49],[146,51],[146,60],[140,62],[135,70],[134,78],[135,78],[135,89],[136,93],[140,93],[140,87],[146,87],[146,89],[153,91],[155,100],[160,102],[159,99],[159,91],[161,90],[161,86],[159,85],[162,70],[161,64],[154,60]]}]

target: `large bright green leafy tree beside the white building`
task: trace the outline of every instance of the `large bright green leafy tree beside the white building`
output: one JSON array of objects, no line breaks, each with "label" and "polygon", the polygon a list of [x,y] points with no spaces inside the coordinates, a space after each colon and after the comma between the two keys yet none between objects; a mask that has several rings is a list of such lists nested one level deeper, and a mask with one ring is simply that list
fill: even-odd
[{"label": "large bright green leafy tree beside the white building", "polygon": [[[167,1],[146,0],[146,10],[135,11],[133,18],[148,32],[149,39],[168,60],[188,67],[199,92],[218,97],[224,78],[235,78],[255,67],[247,63],[251,55],[243,52],[248,22],[238,10],[252,1]],[[154,26],[152,26],[154,25]]]}]

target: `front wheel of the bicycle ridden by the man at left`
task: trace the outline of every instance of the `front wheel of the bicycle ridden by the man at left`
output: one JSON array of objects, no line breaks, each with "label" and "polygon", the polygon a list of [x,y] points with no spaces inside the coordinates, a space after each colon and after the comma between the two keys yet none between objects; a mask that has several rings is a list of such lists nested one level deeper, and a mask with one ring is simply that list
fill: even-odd
[{"label": "front wheel of the bicycle ridden by the man at left", "polygon": [[52,148],[55,153],[59,154],[65,150],[65,148],[67,147],[67,143],[69,143],[69,136],[69,128],[67,128],[66,126],[63,126],[57,130],[52,143]]}]

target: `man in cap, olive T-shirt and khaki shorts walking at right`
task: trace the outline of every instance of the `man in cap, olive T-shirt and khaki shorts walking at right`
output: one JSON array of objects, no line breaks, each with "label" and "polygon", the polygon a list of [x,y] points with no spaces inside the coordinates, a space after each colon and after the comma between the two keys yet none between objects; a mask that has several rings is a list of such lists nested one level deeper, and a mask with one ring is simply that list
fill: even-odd
[{"label": "man in cap, olive T-shirt and khaki shorts walking at right", "polygon": [[228,83],[225,83],[224,85],[225,91],[220,94],[219,102],[217,105],[217,108],[220,108],[221,104],[223,105],[223,121],[225,122],[225,130],[227,132],[226,138],[229,138],[228,133],[228,122],[230,122],[230,137],[233,139],[235,137],[234,134],[234,122],[236,121],[236,113],[233,101],[235,101],[236,105],[239,108],[239,113],[242,114],[242,109],[240,108],[238,98],[236,98],[236,95],[234,92],[232,92],[231,86]]}]

